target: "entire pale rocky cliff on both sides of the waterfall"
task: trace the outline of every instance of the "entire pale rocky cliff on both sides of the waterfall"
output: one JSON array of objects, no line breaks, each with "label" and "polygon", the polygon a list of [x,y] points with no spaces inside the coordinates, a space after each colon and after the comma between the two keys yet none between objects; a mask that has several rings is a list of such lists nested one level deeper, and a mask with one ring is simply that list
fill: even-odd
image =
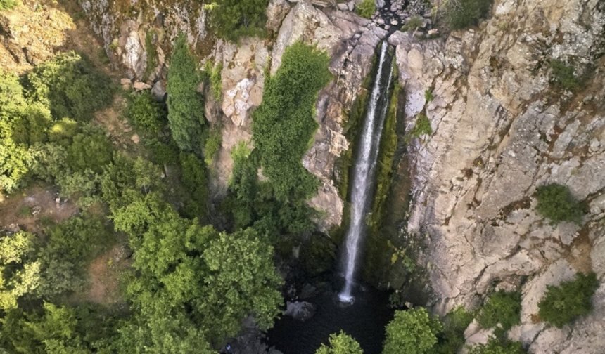
[{"label": "entire pale rocky cliff on both sides of the waterfall", "polygon": [[[335,181],[342,176],[335,163],[350,143],[343,135],[344,112],[359,96],[386,31],[344,6],[322,11],[307,1],[272,0],[267,28],[274,41],[243,39],[236,46],[206,35],[199,7],[177,2],[159,11],[159,3],[147,2],[145,11],[107,1],[84,1],[82,7],[109,55],[160,93],[163,53],[178,30],[203,61],[223,64],[222,98],[205,89],[206,117],[223,127],[214,166],[217,194],[226,190],[231,148],[240,140],[250,143],[250,112],[260,105],[265,72],[274,73],[286,46],[297,40],[329,52],[335,79],[319,93],[320,127],[303,164],[321,180],[310,201],[327,211],[320,228],[339,225],[343,201]],[[148,40],[152,28],[158,33]],[[158,52],[151,71],[146,41]],[[580,271],[605,276],[604,3],[496,0],[492,18],[478,28],[422,41],[395,32],[389,42],[397,48],[405,85],[408,130],[425,110],[434,131],[409,145],[413,202],[407,231],[428,243],[419,261],[428,268],[435,310],[474,306],[494,288],[521,289],[523,323],[511,331],[514,339],[532,353],[601,353],[605,285],[594,296],[592,315],[573,327],[546,328],[533,315],[548,284]],[[552,59],[584,77],[580,91],[553,84]],[[427,89],[435,96],[430,103]],[[585,201],[590,214],[582,225],[554,227],[536,214],[535,189],[553,182]]]}]

